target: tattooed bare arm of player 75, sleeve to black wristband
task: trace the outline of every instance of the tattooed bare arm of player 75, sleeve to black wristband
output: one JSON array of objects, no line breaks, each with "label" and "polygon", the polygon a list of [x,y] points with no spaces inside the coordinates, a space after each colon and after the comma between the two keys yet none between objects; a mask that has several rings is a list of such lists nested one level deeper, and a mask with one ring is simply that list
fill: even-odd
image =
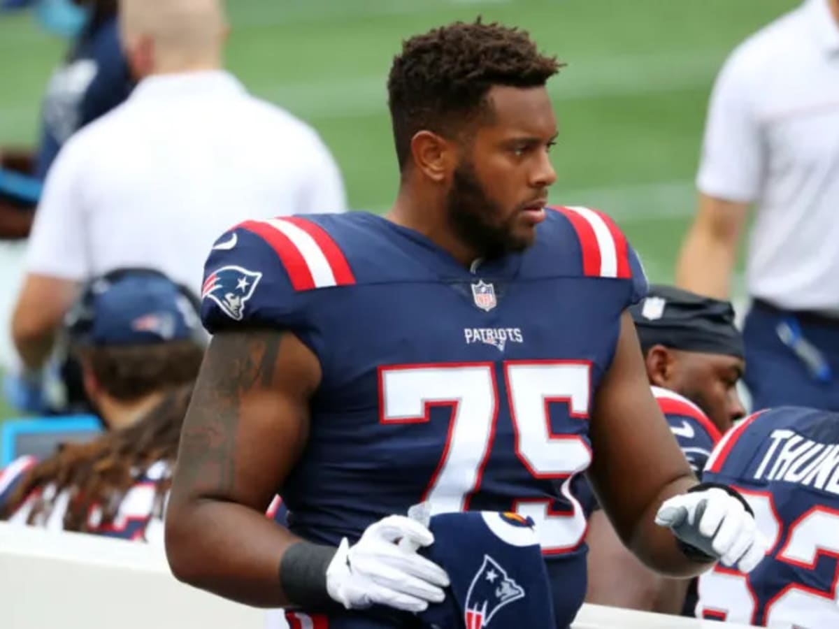
[{"label": "tattooed bare arm of player 75, sleeve to black wristband", "polygon": [[247,605],[289,602],[279,564],[299,538],[265,511],[305,445],[319,382],[316,357],[294,335],[246,330],[211,340],[166,514],[179,580]]}]

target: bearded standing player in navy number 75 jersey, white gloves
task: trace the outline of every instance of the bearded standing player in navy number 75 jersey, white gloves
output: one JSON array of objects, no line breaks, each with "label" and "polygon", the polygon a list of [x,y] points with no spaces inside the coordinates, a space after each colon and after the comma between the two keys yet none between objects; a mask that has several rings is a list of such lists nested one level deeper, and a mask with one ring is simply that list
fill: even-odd
[{"label": "bearded standing player in navy number 75 jersey, white gloves", "polygon": [[[559,67],[497,23],[408,39],[388,78],[388,215],[246,221],[216,242],[166,518],[180,580],[329,626],[410,626],[450,580],[409,506],[513,511],[565,627],[586,587],[586,469],[659,572],[763,557],[742,497],[697,484],[650,392],[635,252],[606,215],[546,207]],[[263,517],[275,493],[288,527]]]}]

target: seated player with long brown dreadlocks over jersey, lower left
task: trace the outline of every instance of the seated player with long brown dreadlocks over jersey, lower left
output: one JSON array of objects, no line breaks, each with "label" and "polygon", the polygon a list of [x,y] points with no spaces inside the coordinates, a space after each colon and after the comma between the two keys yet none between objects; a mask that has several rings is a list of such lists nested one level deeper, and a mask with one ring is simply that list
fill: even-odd
[{"label": "seated player with long brown dreadlocks over jersey, lower left", "polygon": [[[164,394],[143,418],[40,462],[0,472],[0,520],[53,530],[163,543],[163,514],[192,392]],[[15,473],[25,470],[23,473]]]}]

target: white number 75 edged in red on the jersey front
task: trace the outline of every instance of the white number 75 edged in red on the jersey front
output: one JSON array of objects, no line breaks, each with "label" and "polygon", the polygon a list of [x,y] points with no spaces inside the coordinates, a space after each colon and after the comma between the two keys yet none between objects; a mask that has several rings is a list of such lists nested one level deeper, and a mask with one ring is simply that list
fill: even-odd
[{"label": "white number 75 edged in red on the jersey front", "polygon": [[[566,514],[551,512],[547,499],[514,502],[515,511],[536,522],[548,554],[576,548],[586,533],[586,517],[569,485],[591,463],[591,450],[579,436],[553,434],[548,404],[565,403],[571,418],[586,419],[590,370],[587,362],[504,363],[516,455],[535,478],[564,481],[561,491],[573,506]],[[502,403],[492,363],[383,368],[380,394],[383,423],[427,422],[430,407],[453,407],[446,448],[424,499],[437,513],[466,510],[480,489]]]}]

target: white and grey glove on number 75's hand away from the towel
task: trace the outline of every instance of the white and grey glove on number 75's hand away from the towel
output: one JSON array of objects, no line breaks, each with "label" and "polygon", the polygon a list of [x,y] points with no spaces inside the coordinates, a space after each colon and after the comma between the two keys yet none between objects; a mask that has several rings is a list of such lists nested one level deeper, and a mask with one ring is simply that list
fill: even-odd
[{"label": "white and grey glove on number 75's hand away from the towel", "polygon": [[715,486],[673,496],[659,508],[655,523],[723,565],[751,572],[769,546],[743,502]]}]

